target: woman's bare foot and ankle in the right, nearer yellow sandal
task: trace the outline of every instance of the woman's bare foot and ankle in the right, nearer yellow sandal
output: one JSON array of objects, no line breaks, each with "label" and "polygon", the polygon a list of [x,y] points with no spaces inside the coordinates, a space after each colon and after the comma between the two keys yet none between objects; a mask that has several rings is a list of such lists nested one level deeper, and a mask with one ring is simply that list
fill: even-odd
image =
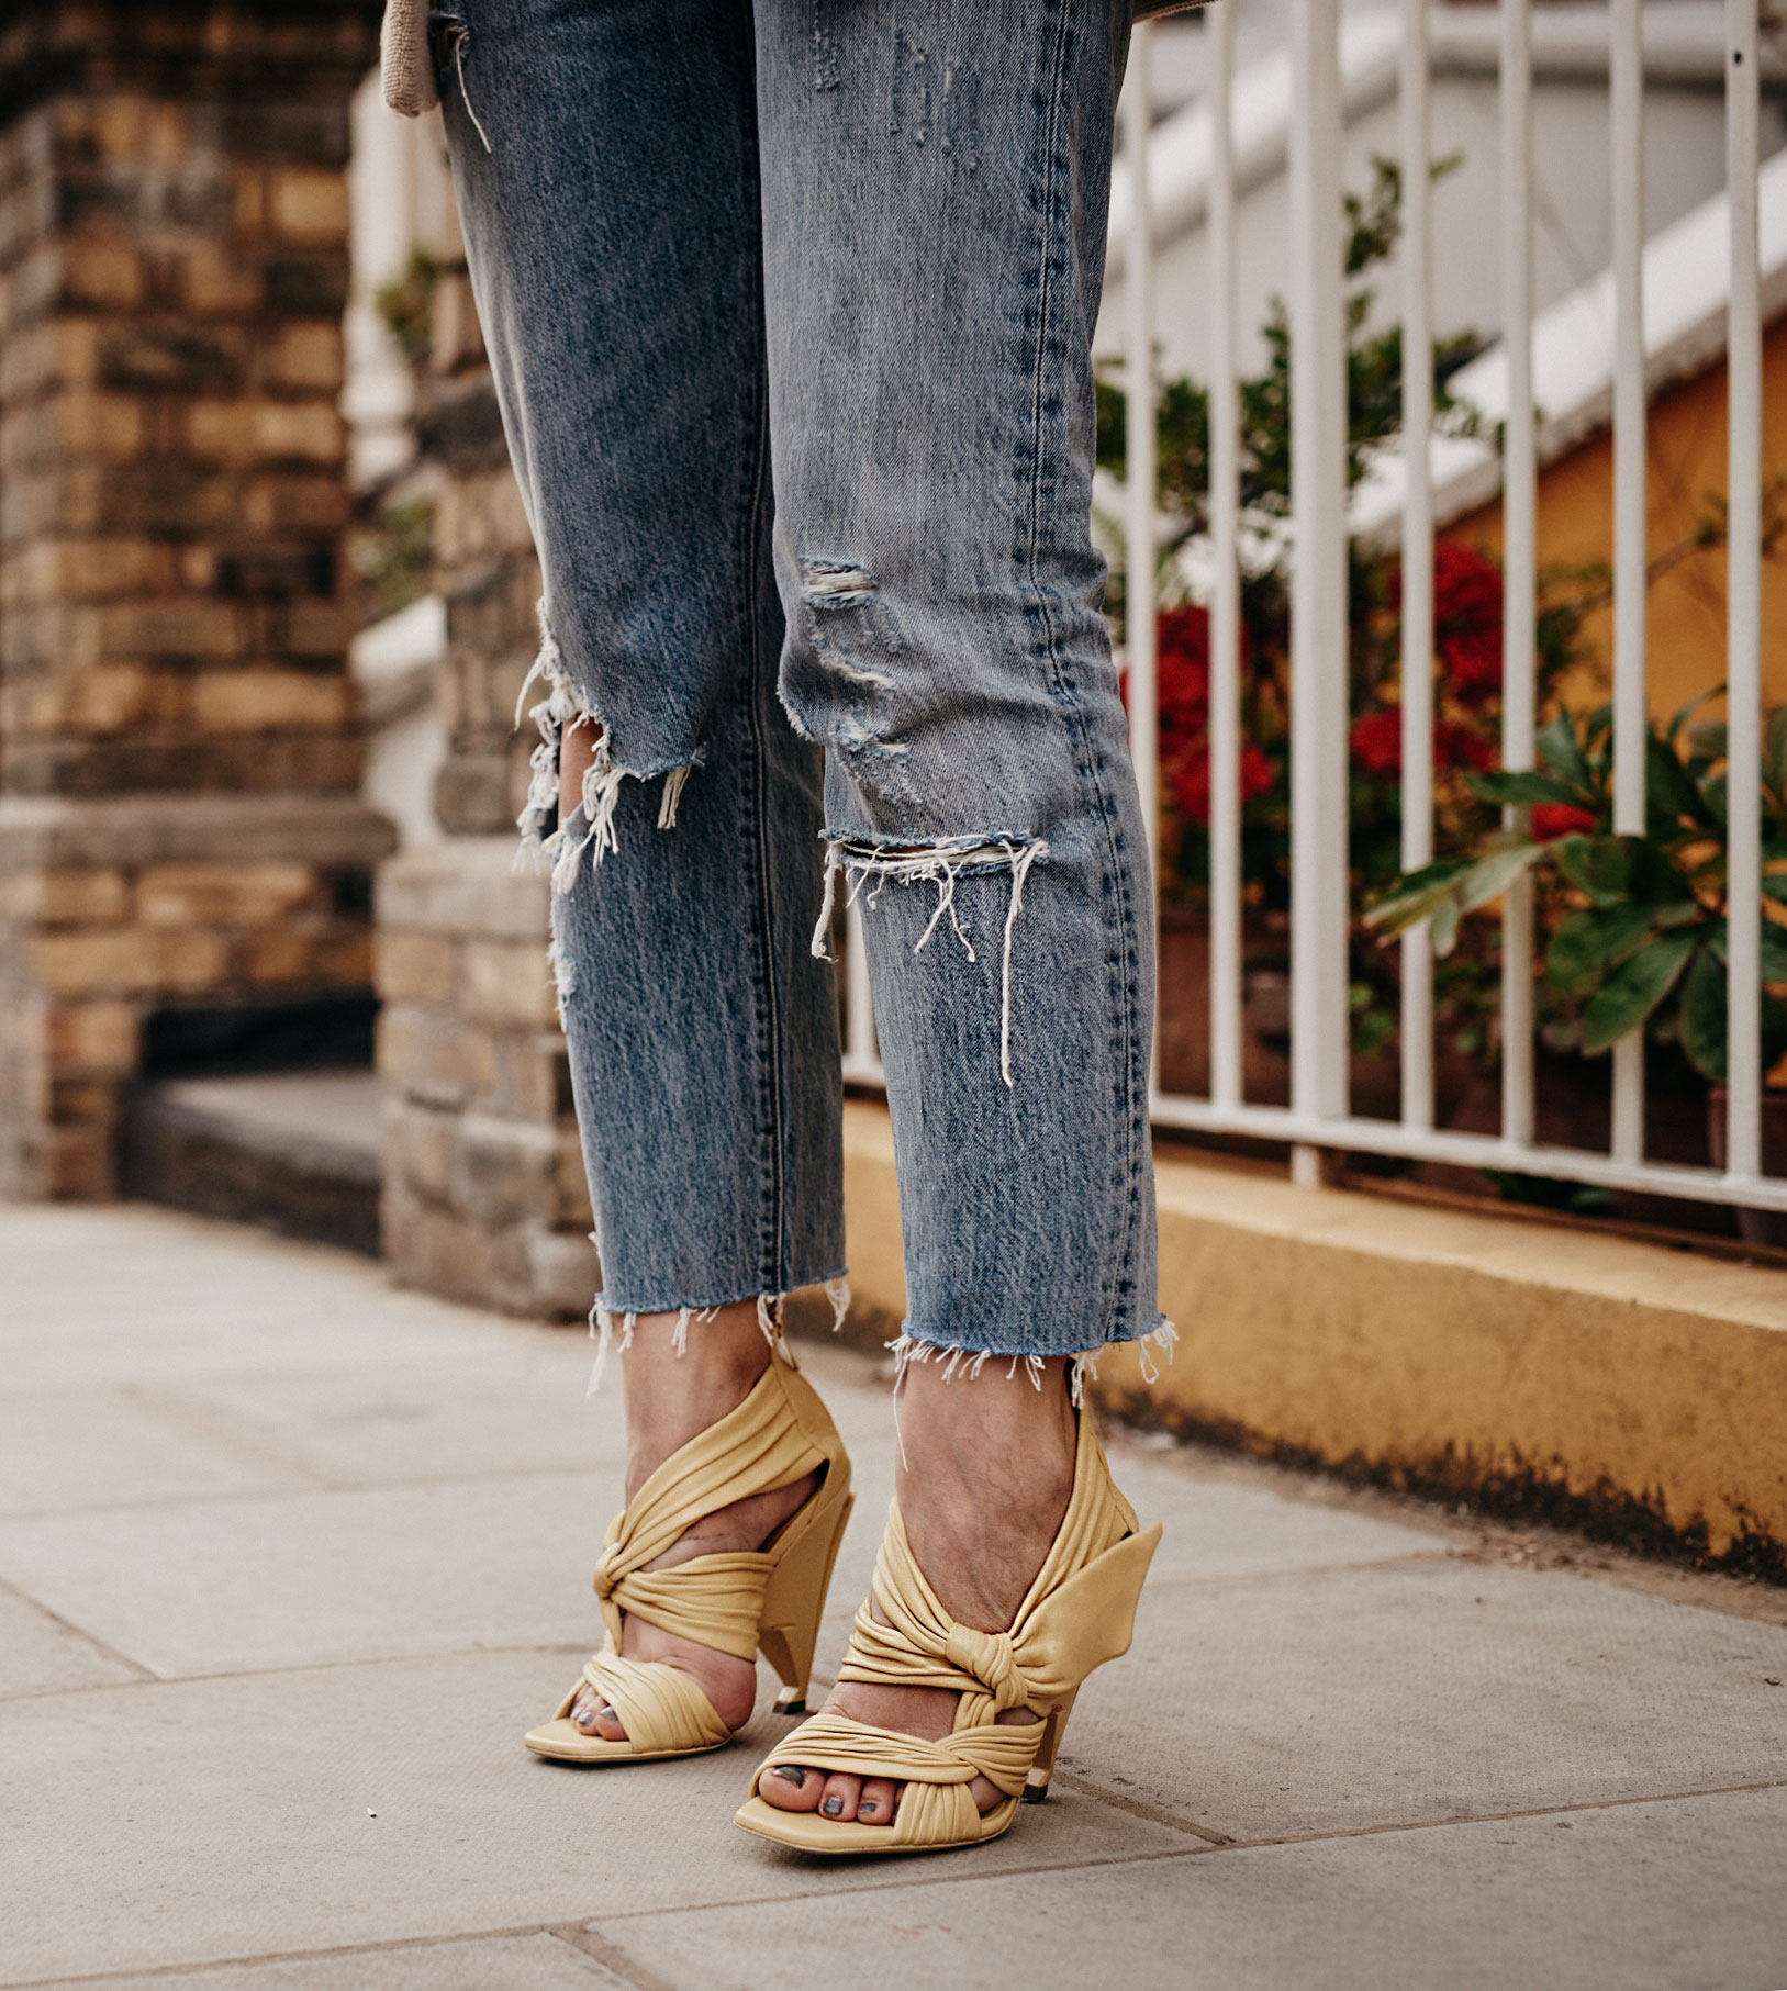
[{"label": "woman's bare foot and ankle in the right, nearer yellow sandal", "polygon": [[[900,1394],[896,1475],[912,1555],[944,1609],[976,1631],[1008,1631],[1060,1533],[1074,1493],[1074,1412],[1066,1362],[1044,1368],[1042,1390],[988,1362],[972,1382],[914,1362]],[[871,1605],[877,1617],[881,1611]],[[885,1621],[883,1621],[885,1623]],[[934,1686],[845,1680],[825,1702],[835,1714],[936,1742],[950,1732],[956,1694]],[[1006,1708],[1000,1722],[1036,1720]],[[904,1784],[783,1766],[757,1786],[779,1812],[891,1826]],[[968,1786],[980,1812],[1002,1802],[984,1776]]]}]

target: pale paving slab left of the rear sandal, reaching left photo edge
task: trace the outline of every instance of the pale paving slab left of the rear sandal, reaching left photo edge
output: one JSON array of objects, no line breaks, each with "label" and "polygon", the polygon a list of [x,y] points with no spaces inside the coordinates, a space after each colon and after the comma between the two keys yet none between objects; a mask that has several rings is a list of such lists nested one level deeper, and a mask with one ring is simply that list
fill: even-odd
[{"label": "pale paving slab left of the rear sandal, reaching left photo edge", "polygon": [[0,1579],[161,1678],[596,1641],[594,1473],[0,1523]]}]

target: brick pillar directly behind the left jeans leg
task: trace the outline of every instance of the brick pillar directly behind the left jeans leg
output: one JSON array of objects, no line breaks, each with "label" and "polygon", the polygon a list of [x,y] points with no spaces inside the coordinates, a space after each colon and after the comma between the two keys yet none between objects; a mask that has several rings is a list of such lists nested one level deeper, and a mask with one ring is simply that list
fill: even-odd
[{"label": "brick pillar directly behind the left jeans leg", "polygon": [[398,1278],[522,1314],[582,1316],[600,1276],[570,1069],[546,968],[548,886],[516,874],[536,733],[540,563],[508,468],[464,255],[440,247],[422,440],[436,474],[448,836],[379,874],[384,1252]]}]

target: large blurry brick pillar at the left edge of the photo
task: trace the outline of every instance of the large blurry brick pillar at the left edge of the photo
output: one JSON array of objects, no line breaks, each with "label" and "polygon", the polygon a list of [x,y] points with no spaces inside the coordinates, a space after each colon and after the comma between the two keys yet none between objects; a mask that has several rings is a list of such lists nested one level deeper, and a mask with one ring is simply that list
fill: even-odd
[{"label": "large blurry brick pillar at the left edge of the photo", "polygon": [[337,400],[375,36],[0,20],[0,1191],[110,1191],[155,1009],[369,984]]}]

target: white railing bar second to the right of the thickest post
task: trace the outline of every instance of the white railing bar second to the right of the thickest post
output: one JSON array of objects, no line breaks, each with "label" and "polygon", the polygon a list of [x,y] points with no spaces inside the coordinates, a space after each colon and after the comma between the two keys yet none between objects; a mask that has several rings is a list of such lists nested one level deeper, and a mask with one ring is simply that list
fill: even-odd
[{"label": "white railing bar second to the right of the thickest post", "polygon": [[[1538,436],[1532,398],[1532,0],[1502,0],[1502,767],[1530,769],[1538,623]],[[1508,810],[1512,830],[1524,810]],[[1502,902],[1502,1139],[1532,1145],[1532,886]]]}]

